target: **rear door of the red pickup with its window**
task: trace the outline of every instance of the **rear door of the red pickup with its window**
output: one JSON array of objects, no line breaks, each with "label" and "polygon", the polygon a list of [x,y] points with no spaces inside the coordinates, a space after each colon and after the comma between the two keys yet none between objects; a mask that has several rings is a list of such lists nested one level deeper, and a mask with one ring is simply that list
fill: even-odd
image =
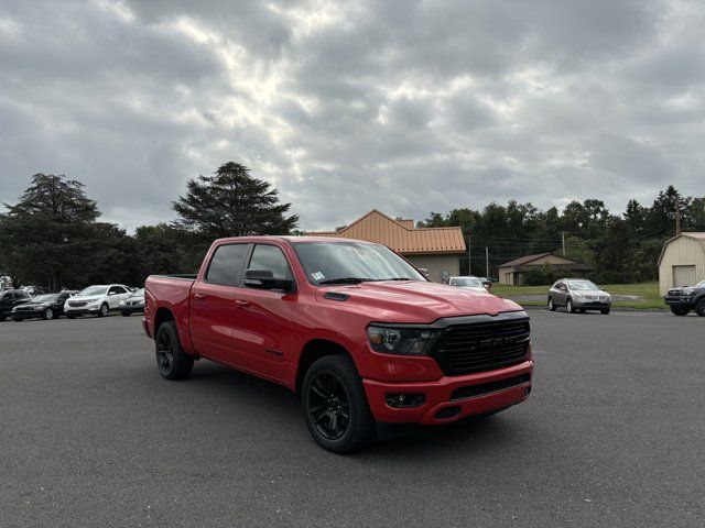
[{"label": "rear door of the red pickup with its window", "polygon": [[232,364],[232,326],[236,317],[235,290],[242,278],[249,244],[216,248],[203,280],[191,288],[191,339],[196,351]]}]

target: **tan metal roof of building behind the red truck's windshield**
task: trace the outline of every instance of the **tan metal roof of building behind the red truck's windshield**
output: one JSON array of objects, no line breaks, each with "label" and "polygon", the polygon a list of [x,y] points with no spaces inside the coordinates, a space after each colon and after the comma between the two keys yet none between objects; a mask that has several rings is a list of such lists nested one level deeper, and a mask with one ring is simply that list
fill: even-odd
[{"label": "tan metal roof of building behind the red truck's windshield", "polygon": [[384,244],[401,254],[465,253],[463,230],[455,228],[414,228],[413,220],[394,220],[383,212],[370,212],[340,231],[306,233],[311,237],[337,237]]}]

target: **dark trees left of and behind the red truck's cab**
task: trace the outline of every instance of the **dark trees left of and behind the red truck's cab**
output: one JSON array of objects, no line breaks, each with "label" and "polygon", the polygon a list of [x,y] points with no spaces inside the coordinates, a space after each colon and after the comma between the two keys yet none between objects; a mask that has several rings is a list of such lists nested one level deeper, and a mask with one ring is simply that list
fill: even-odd
[{"label": "dark trees left of and behind the red truck's cab", "polygon": [[134,234],[99,220],[80,182],[36,174],[0,215],[0,275],[55,292],[89,284],[142,285],[153,273],[195,273],[214,239],[289,234],[299,222],[278,191],[237,163],[189,179],[172,222]]}]

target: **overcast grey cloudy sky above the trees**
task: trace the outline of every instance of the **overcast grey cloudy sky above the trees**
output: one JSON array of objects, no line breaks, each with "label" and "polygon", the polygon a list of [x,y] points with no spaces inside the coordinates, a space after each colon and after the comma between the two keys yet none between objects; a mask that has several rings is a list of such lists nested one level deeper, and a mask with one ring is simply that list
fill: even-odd
[{"label": "overcast grey cloudy sky above the trees", "polygon": [[705,195],[705,3],[0,1],[0,201],[37,172],[173,219],[226,161],[304,229]]}]

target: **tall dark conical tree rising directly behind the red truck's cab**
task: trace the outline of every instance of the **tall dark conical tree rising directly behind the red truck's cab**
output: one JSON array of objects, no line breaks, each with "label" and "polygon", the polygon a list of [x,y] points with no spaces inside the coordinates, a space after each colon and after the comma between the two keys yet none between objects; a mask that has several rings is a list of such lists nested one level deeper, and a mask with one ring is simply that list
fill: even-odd
[{"label": "tall dark conical tree rising directly behind the red truck's cab", "polygon": [[186,184],[186,196],[172,204],[176,226],[197,233],[204,242],[250,234],[289,234],[299,217],[288,216],[291,204],[280,204],[278,190],[250,170],[229,162],[214,176]]}]

